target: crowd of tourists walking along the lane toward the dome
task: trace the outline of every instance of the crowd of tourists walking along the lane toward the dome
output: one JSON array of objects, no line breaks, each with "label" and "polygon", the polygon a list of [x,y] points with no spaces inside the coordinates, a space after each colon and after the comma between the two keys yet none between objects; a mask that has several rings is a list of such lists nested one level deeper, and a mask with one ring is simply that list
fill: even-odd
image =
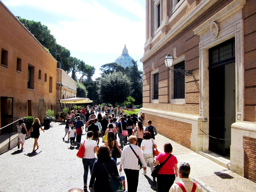
[{"label": "crowd of tourists walking along the lane toward the dome", "polygon": [[[113,108],[113,106],[95,106],[91,110],[88,108],[72,110],[68,115],[65,122],[65,135],[62,139],[64,141],[68,136],[70,148],[75,147],[76,140],[79,151],[84,149],[82,155],[84,191],[92,188],[95,192],[114,191],[109,180],[112,180],[110,177],[118,177],[117,158],[121,158],[119,172],[124,169],[128,192],[137,191],[139,170],[143,169],[142,174],[147,175],[147,162],[150,166],[152,180],[157,182],[158,192],[202,191],[196,187],[196,183],[188,178],[189,164],[180,163],[178,167],[177,158],[172,155],[172,144],[165,143],[164,153],[158,152],[157,143],[155,143],[157,129],[152,125],[152,121],[148,120],[147,126],[144,128],[146,121],[144,113],[139,118],[135,113],[131,117],[126,115],[122,109]],[[102,112],[105,113],[102,114]],[[40,128],[42,129],[40,121],[35,118],[32,127],[27,131],[26,125],[21,119],[17,125],[18,148],[20,144],[23,148],[26,135],[28,136],[33,130],[35,139],[33,152],[36,150],[36,146],[38,149]],[[86,134],[86,139],[81,142],[83,132]],[[104,145],[99,147],[100,137],[102,137]],[[95,158],[95,153],[97,158]],[[89,169],[91,178],[89,186],[87,186]],[[180,182],[173,184],[178,176],[181,178]]]}]

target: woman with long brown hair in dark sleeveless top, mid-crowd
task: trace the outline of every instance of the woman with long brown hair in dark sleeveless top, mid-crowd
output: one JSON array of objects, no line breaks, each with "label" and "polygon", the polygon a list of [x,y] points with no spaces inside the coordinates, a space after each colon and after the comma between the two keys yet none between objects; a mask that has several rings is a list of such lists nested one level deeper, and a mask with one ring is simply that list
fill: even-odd
[{"label": "woman with long brown hair in dark sleeveless top, mid-crowd", "polygon": [[110,154],[112,155],[111,157],[117,162],[118,154],[120,158],[122,152],[118,146],[116,136],[113,131],[108,132],[108,140],[104,143],[104,145],[110,148]]}]

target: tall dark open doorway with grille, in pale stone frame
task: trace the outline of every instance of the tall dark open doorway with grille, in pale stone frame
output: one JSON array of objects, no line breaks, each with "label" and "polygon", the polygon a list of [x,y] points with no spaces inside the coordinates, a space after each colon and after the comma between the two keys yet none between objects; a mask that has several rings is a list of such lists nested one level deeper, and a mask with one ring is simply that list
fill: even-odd
[{"label": "tall dark open doorway with grille, in pale stone frame", "polygon": [[234,38],[209,49],[209,150],[229,156],[236,122]]}]

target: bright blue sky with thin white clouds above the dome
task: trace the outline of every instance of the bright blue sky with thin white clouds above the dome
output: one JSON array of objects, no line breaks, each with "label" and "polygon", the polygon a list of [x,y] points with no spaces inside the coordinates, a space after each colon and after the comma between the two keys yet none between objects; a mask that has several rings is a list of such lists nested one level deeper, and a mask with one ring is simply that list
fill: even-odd
[{"label": "bright blue sky with thin white clouds above the dome", "polygon": [[146,41],[145,0],[1,0],[15,15],[40,21],[72,57],[99,68],[121,56],[138,61]]}]

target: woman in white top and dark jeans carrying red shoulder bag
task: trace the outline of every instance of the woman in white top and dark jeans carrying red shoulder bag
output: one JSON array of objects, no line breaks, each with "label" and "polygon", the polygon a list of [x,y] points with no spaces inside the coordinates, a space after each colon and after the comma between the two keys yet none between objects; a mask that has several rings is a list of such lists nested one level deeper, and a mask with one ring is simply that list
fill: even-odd
[{"label": "woman in white top and dark jeans carrying red shoulder bag", "polygon": [[84,140],[84,142],[82,142],[81,146],[84,145],[84,155],[83,155],[83,169],[84,169],[84,173],[83,173],[83,189],[84,191],[87,190],[87,178],[88,178],[88,172],[90,169],[90,174],[93,172],[93,163],[96,160],[95,159],[95,154],[94,151],[97,152],[98,150],[98,141],[95,142],[93,139],[93,131],[88,131],[87,132],[87,136],[88,139]]}]

